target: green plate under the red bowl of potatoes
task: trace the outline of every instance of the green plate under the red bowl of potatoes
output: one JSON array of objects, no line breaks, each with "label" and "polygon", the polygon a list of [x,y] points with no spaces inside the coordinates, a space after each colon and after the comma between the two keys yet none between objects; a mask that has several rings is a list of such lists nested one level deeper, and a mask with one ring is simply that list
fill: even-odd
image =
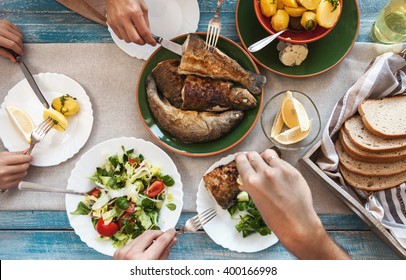
[{"label": "green plate under the red bowl of potatoes", "polygon": [[[238,1],[236,27],[245,49],[269,36],[259,23],[252,1]],[[262,67],[276,74],[291,78],[305,78],[322,74],[338,65],[351,51],[358,35],[360,16],[356,0],[343,1],[342,12],[336,26],[318,41],[307,44],[307,58],[297,66],[285,66],[279,60],[278,40],[262,50],[251,53]]]}]

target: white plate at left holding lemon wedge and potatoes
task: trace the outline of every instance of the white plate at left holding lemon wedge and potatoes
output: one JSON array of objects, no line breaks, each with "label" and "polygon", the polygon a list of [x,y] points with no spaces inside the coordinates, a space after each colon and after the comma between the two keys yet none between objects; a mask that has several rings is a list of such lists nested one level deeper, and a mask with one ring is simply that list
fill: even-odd
[{"label": "white plate at left holding lemon wedge and potatoes", "polygon": [[[76,115],[68,118],[68,127],[64,132],[55,129],[38,143],[32,155],[32,165],[52,166],[73,157],[85,145],[93,126],[93,109],[83,87],[75,80],[57,73],[40,73],[34,75],[35,81],[49,104],[63,94],[77,98],[80,110]],[[0,137],[9,151],[22,151],[28,148],[26,141],[12,126],[5,107],[13,105],[25,111],[38,125],[43,119],[44,107],[31,89],[27,80],[17,83],[4,99],[0,109]]]}]

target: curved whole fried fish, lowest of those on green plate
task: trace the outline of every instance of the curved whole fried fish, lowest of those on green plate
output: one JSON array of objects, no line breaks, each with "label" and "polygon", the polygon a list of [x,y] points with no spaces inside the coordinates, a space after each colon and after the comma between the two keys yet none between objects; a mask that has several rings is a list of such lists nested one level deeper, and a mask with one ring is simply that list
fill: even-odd
[{"label": "curved whole fried fish, lowest of those on green plate", "polygon": [[229,133],[243,118],[242,111],[211,112],[187,111],[175,108],[161,99],[152,75],[147,77],[149,107],[160,128],[182,143],[203,143]]}]

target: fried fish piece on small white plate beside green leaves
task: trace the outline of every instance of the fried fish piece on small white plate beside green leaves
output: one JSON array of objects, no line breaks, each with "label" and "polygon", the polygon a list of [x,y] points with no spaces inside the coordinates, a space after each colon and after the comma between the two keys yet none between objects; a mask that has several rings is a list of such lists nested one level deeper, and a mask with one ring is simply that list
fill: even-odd
[{"label": "fried fish piece on small white plate beside green leaves", "polygon": [[204,186],[223,209],[228,209],[237,201],[240,193],[238,170],[235,161],[220,165],[203,176]]}]

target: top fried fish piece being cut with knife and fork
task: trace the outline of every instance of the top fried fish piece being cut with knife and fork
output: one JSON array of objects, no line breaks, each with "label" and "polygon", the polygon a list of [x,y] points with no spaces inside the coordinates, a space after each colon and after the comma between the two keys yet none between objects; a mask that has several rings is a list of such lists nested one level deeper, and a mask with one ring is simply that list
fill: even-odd
[{"label": "top fried fish piece being cut with knife and fork", "polygon": [[183,55],[178,68],[179,74],[194,74],[213,79],[240,83],[253,94],[260,94],[266,78],[245,70],[219,49],[206,50],[205,42],[195,34],[189,34],[183,44]]}]

